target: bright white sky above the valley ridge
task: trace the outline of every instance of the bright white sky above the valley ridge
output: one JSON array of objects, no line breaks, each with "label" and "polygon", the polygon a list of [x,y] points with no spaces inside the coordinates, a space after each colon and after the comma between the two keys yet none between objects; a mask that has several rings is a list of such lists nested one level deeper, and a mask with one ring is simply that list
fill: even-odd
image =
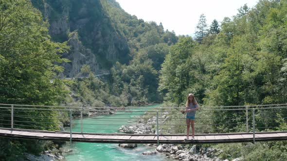
[{"label": "bright white sky above the valley ridge", "polygon": [[245,3],[252,8],[258,0],[116,0],[130,15],[144,21],[162,23],[164,30],[179,34],[194,34],[199,16],[206,16],[207,24],[216,19],[232,17]]}]

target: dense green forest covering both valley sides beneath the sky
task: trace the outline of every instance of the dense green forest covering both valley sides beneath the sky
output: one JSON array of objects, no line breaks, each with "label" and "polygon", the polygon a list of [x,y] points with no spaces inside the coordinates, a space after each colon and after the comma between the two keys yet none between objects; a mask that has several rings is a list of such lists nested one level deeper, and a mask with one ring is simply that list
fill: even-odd
[{"label": "dense green forest covering both valley sides beneath the sky", "polygon": [[[67,69],[61,65],[72,61],[62,57],[73,48],[69,40],[80,41],[92,52],[96,48],[88,41],[91,26],[75,30],[71,27],[71,31],[61,35],[50,34],[50,23],[60,17],[64,6],[77,6],[75,0],[60,1],[0,0],[0,103],[79,107],[164,103],[183,107],[189,93],[195,94],[200,106],[286,103],[287,0],[259,0],[251,8],[243,5],[236,16],[220,22],[213,20],[210,25],[202,14],[195,37],[176,35],[174,31],[164,31],[162,24],[131,16],[114,0],[94,0],[102,8],[90,13],[95,16],[103,12],[103,22],[108,26],[105,29],[124,37],[128,50],[121,50],[119,54],[124,56],[112,61],[105,58],[105,52],[97,53],[100,67],[109,71],[106,76],[97,77],[90,65],[81,64],[77,75],[69,79],[63,78]],[[54,7],[49,16],[43,15],[44,3]],[[73,17],[76,14],[70,12]],[[91,19],[92,23],[97,21]],[[105,37],[109,32],[102,33]],[[46,114],[51,116],[50,121],[59,121],[54,117],[58,113]],[[228,115],[213,114],[218,118]],[[279,114],[285,119],[287,113]],[[216,132],[236,132],[229,126]],[[287,130],[286,121],[270,126]],[[55,123],[44,129],[59,128]],[[1,138],[0,158],[15,160],[23,152],[38,154],[57,146],[53,142],[34,142]],[[247,151],[240,153],[247,146],[254,151],[252,155]],[[222,148],[230,152],[230,158],[237,155],[250,161],[255,161],[256,156],[266,161],[287,159],[285,141]],[[17,149],[16,156],[12,155],[13,149]],[[238,153],[231,154],[231,149]]]}]

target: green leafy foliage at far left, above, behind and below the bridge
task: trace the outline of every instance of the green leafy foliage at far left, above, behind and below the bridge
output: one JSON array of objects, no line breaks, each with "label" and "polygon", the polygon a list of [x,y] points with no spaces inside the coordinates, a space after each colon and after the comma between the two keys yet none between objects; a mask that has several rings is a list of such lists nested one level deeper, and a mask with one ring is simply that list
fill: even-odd
[{"label": "green leafy foliage at far left, above, behind and below the bridge", "polygon": [[[42,3],[37,4],[41,7]],[[51,41],[48,22],[43,21],[41,13],[28,0],[0,0],[0,17],[0,102],[58,105],[67,94],[63,82],[55,78],[63,70],[56,63],[67,62],[61,58],[61,53],[68,50],[66,43]],[[15,119],[15,128],[59,129],[58,113],[54,111],[27,110],[14,114],[28,116]],[[30,121],[36,124],[31,125]],[[0,142],[0,158],[4,160],[15,160],[26,151],[38,154],[45,145],[44,141]]]}]

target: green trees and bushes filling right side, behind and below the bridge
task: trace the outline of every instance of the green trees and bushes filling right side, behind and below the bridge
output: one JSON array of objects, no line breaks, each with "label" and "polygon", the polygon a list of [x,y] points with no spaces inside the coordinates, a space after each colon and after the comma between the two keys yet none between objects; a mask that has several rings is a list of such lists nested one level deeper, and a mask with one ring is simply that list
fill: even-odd
[{"label": "green trees and bushes filling right side, behind and below the bridge", "polygon": [[[192,54],[180,54],[186,46],[179,46],[179,40],[162,64],[159,90],[166,100],[178,106],[184,104],[188,93],[195,93],[198,102],[206,106],[286,103],[286,15],[286,0],[260,0],[254,8],[244,5],[236,16],[225,17],[217,34],[201,34],[201,44],[190,49]],[[201,21],[204,22],[203,17]],[[208,117],[207,113],[197,114]],[[256,111],[256,127],[276,127],[256,131],[286,130],[286,114],[280,109]],[[240,118],[245,115],[235,110],[215,111],[209,113],[214,119],[206,122],[214,126],[206,131],[204,127],[197,130],[243,132],[245,120]],[[184,131],[185,127],[182,128],[177,130]],[[286,142],[217,147],[223,150],[218,153],[222,159],[286,160]]]}]

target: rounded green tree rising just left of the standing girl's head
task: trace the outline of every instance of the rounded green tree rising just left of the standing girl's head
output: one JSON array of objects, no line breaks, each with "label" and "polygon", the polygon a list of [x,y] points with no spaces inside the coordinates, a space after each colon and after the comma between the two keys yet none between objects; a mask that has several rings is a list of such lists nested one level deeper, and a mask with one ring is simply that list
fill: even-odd
[{"label": "rounded green tree rising just left of the standing girl's head", "polygon": [[185,90],[190,83],[191,56],[194,54],[195,42],[191,37],[183,37],[170,48],[161,68],[159,90],[166,93],[166,100],[182,103]]}]

